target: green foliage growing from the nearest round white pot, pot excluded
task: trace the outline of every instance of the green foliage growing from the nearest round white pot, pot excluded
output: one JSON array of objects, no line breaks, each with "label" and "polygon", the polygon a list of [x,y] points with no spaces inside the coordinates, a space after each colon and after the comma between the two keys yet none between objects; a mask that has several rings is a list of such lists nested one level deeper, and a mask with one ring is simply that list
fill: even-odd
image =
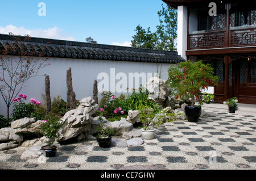
[{"label": "green foliage growing from the nearest round white pot, pot excluded", "polygon": [[[152,127],[159,124],[159,121],[152,121],[154,119],[155,113],[151,107],[148,106],[140,106],[139,107],[139,120],[143,124],[142,129],[151,130]],[[150,124],[152,123],[152,126]]]}]

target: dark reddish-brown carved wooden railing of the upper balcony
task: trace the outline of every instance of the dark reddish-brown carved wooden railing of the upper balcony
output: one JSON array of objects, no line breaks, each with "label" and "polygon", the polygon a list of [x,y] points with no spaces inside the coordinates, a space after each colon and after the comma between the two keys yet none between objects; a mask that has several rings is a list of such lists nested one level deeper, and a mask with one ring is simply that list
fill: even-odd
[{"label": "dark reddish-brown carved wooden railing of the upper balcony", "polygon": [[[228,35],[228,36],[227,36]],[[188,50],[256,45],[256,26],[188,35]]]}]

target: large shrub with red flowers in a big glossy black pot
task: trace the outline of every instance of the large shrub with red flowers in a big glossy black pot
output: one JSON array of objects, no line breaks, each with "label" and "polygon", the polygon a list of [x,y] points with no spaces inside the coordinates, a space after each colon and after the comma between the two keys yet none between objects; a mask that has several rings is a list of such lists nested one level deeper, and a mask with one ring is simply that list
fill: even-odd
[{"label": "large shrub with red flowers in a big glossy black pot", "polygon": [[168,68],[166,85],[171,88],[171,95],[184,101],[192,100],[191,106],[185,107],[188,121],[197,122],[201,115],[203,102],[199,98],[200,90],[208,89],[208,86],[217,86],[218,77],[213,74],[213,68],[209,64],[203,64],[202,61],[192,63],[187,60]]}]

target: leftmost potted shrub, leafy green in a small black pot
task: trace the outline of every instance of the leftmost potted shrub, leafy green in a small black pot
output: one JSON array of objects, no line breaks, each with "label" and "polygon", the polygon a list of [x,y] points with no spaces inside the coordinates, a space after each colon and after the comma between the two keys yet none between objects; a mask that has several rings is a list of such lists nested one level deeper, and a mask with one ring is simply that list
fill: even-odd
[{"label": "leftmost potted shrub, leafy green in a small black pot", "polygon": [[60,137],[59,130],[61,127],[62,123],[59,117],[47,115],[46,120],[43,120],[43,123],[41,124],[41,133],[47,138],[47,145],[42,146],[42,150],[45,151],[46,157],[53,157],[56,154],[57,147],[52,144]]}]

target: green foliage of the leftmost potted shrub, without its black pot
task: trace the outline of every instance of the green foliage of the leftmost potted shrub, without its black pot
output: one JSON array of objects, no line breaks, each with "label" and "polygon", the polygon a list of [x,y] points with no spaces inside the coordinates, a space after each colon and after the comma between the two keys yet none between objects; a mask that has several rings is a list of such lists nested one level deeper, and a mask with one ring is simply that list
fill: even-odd
[{"label": "green foliage of the leftmost potted shrub, without its black pot", "polygon": [[60,137],[59,130],[62,127],[59,117],[55,115],[47,115],[46,120],[41,124],[41,133],[47,138],[48,146]]}]

